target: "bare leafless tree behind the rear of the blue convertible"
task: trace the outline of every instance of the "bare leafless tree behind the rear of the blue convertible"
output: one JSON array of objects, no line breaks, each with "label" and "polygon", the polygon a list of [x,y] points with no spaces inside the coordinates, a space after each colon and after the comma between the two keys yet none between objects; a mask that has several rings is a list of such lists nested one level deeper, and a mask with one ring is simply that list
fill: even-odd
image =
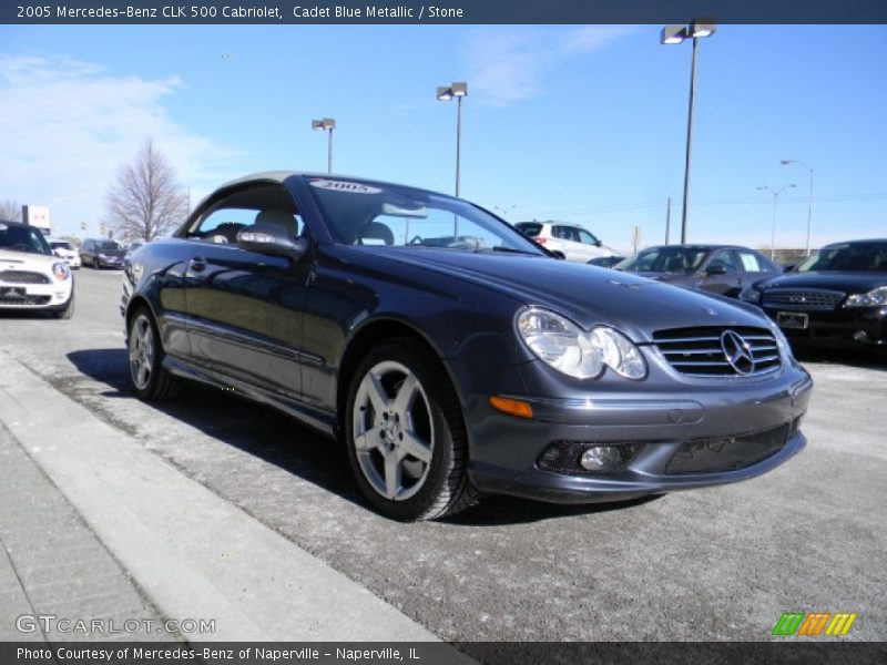
[{"label": "bare leafless tree behind the rear of the blue convertible", "polygon": [[149,139],[131,164],[122,166],[108,195],[109,225],[128,241],[153,241],[187,215],[187,194],[175,170]]}]

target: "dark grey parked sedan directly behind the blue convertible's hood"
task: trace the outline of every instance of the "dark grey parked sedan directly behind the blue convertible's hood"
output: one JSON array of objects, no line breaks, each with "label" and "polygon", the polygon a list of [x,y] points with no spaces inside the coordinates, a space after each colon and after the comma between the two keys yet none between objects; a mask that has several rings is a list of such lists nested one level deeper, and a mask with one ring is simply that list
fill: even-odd
[{"label": "dark grey parked sedan directly behind the blue convertible's hood", "polygon": [[744,285],[783,273],[759,252],[735,245],[648,247],[615,268],[732,298]]}]

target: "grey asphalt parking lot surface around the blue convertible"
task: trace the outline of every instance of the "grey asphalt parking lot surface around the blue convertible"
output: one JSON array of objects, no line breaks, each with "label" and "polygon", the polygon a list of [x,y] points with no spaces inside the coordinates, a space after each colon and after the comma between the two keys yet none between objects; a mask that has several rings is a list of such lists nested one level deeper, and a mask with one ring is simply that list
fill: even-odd
[{"label": "grey asphalt parking lot surface around the blue convertible", "polygon": [[767,641],[789,611],[854,612],[844,640],[887,640],[887,367],[865,356],[803,356],[816,381],[808,447],[762,478],[605,507],[488,498],[400,524],[365,505],[344,450],[269,409],[201,387],[136,400],[120,273],[81,269],[77,294],[71,320],[0,315],[3,350],[121,447],[159,456],[442,640]]}]

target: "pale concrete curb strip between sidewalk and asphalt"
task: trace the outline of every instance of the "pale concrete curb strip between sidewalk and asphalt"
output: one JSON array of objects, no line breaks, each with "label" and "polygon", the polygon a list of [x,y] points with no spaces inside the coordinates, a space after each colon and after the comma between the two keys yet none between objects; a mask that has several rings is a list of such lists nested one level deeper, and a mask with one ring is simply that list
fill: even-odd
[{"label": "pale concrete curb strip between sidewalk and asphalt", "polygon": [[[167,618],[198,641],[437,641],[0,351],[0,420]],[[458,652],[453,651],[458,656]]]}]

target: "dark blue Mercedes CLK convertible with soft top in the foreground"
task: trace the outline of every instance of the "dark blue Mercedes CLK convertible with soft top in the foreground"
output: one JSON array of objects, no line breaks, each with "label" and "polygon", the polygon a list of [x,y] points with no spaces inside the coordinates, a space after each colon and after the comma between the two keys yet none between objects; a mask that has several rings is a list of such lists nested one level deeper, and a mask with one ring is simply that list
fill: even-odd
[{"label": "dark blue Mercedes CLK convertible with soft top in the foreground", "polygon": [[396,519],[718,485],[806,442],[810,378],[757,308],[558,260],[450,196],[257,174],[124,270],[140,397],[186,378],[283,409]]}]

